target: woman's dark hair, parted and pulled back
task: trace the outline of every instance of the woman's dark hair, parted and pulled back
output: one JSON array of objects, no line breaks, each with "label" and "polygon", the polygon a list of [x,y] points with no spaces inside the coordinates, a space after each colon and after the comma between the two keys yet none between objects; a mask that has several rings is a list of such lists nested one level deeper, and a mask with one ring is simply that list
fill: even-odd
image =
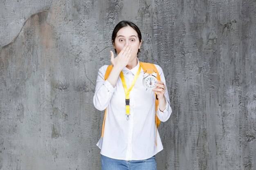
[{"label": "woman's dark hair, parted and pulled back", "polygon": [[[121,29],[121,28],[124,28],[126,26],[130,26],[132,27],[138,34],[138,38],[139,38],[139,42],[141,42],[141,32],[139,31],[139,28],[137,25],[133,24],[132,22],[130,21],[120,21],[116,26],[115,26],[115,29],[113,30],[112,32],[112,44],[115,42],[115,38],[117,36],[117,32]],[[115,49],[115,52],[117,53],[117,50]],[[138,53],[140,51],[138,50]],[[138,54],[137,53],[137,54]]]}]

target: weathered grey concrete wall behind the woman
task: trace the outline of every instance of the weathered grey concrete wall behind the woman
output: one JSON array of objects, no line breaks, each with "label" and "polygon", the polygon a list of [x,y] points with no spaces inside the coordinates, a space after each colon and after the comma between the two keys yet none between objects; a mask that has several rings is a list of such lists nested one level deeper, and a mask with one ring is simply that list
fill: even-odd
[{"label": "weathered grey concrete wall behind the woman", "polygon": [[137,24],[173,113],[158,170],[256,169],[256,0],[0,0],[0,170],[99,170],[92,97]]}]

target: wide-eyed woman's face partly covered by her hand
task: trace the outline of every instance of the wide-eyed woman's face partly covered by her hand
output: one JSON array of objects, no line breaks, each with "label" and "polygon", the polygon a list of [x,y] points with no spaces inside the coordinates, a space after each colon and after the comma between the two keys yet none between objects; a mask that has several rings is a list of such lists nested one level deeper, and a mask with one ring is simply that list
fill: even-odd
[{"label": "wide-eyed woman's face partly covered by her hand", "polygon": [[115,38],[115,42],[113,42],[113,45],[117,50],[117,54],[119,54],[119,52],[124,48],[126,44],[130,44],[132,48],[132,56],[130,61],[132,61],[137,57],[141,42],[139,42],[138,33],[135,31],[135,29],[130,26],[126,26],[117,32],[117,36]]}]

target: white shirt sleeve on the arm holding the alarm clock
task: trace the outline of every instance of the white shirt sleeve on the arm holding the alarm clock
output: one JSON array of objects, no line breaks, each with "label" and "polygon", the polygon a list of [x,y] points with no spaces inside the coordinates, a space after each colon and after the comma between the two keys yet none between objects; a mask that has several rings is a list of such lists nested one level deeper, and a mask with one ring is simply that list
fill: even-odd
[{"label": "white shirt sleeve on the arm holding the alarm clock", "polygon": [[169,99],[169,95],[168,95],[168,91],[167,91],[167,86],[166,86],[163,70],[157,64],[155,64],[155,66],[157,68],[157,71],[159,73],[161,81],[164,82],[164,85],[165,85],[164,97],[166,99],[166,107],[163,111],[160,111],[159,105],[157,106],[157,117],[160,121],[164,122],[164,121],[167,121],[169,119],[169,117],[171,116],[172,108],[170,106],[170,99]]}]

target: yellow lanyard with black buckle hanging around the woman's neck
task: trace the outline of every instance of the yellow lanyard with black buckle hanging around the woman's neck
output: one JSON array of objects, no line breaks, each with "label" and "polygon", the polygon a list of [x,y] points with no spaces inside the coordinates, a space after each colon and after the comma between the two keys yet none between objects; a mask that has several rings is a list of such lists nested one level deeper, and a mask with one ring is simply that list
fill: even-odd
[{"label": "yellow lanyard with black buckle hanging around the woman's neck", "polygon": [[139,72],[140,72],[140,65],[139,65],[139,69],[134,77],[134,79],[132,80],[132,83],[130,84],[130,87],[129,89],[127,89],[127,86],[126,86],[126,83],[125,83],[125,79],[124,79],[124,74],[123,74],[123,71],[120,72],[120,77],[121,77],[121,80],[122,80],[122,84],[124,86],[124,93],[125,93],[125,102],[126,102],[126,115],[127,115],[127,120],[129,120],[129,116],[130,116],[130,91],[132,89],[132,87],[134,86],[138,76],[139,76]]}]

